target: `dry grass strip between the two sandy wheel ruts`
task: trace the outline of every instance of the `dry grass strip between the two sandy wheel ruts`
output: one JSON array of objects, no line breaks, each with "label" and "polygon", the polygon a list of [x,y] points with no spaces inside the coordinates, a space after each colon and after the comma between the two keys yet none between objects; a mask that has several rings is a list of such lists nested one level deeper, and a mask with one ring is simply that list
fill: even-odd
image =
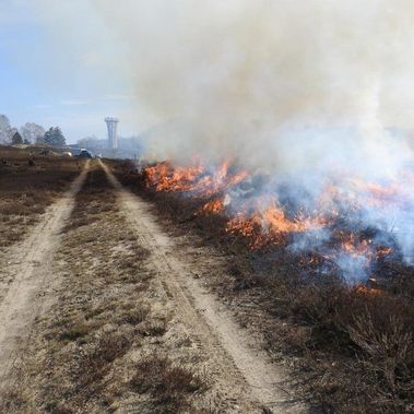
[{"label": "dry grass strip between the two sandy wheel ruts", "polygon": [[168,316],[153,309],[149,255],[95,166],[64,229],[56,304],[36,322],[19,391],[2,395],[9,412],[191,410],[201,381],[164,356]]}]

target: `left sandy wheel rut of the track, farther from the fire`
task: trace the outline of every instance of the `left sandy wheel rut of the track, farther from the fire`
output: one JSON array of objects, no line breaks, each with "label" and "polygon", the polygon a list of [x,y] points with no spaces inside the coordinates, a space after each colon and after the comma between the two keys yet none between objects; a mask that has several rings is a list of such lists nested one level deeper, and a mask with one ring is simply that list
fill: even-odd
[{"label": "left sandy wheel rut of the track, farther from the fire", "polygon": [[[32,324],[50,303],[54,283],[54,252],[59,246],[60,230],[74,205],[88,168],[73,181],[70,190],[45,213],[28,237],[12,248],[3,273],[13,275],[0,304],[0,391],[13,385],[12,371],[17,368]],[[1,407],[1,402],[0,402]]]}]

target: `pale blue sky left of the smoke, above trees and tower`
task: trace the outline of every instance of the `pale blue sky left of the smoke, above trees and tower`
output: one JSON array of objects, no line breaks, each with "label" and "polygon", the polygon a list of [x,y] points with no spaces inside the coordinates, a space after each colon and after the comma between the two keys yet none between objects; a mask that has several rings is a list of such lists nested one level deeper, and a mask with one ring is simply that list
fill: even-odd
[{"label": "pale blue sky left of the smoke, above trees and tower", "polygon": [[123,52],[87,2],[0,0],[0,114],[16,128],[59,126],[69,142],[105,137],[105,116],[137,133]]}]

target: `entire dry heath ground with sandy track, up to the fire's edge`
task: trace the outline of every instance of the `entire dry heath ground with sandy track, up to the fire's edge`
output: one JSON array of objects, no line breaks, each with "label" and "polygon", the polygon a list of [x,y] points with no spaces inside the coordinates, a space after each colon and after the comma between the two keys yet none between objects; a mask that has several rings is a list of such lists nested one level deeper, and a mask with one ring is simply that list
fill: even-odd
[{"label": "entire dry heath ground with sandy track, up to the fire's edge", "polygon": [[403,268],[376,288],[304,280],[129,164],[48,157],[29,174],[10,154],[1,191],[32,222],[1,251],[1,412],[412,410]]}]

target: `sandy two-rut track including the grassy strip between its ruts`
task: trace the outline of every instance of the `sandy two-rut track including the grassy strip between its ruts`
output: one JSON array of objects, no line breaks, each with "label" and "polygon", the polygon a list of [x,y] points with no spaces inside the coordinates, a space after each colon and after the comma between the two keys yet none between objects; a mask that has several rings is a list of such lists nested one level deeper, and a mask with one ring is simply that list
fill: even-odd
[{"label": "sandy two-rut track including the grassy strip between its ruts", "polygon": [[9,250],[2,412],[306,412],[200,279],[222,259],[155,213],[93,161]]}]

